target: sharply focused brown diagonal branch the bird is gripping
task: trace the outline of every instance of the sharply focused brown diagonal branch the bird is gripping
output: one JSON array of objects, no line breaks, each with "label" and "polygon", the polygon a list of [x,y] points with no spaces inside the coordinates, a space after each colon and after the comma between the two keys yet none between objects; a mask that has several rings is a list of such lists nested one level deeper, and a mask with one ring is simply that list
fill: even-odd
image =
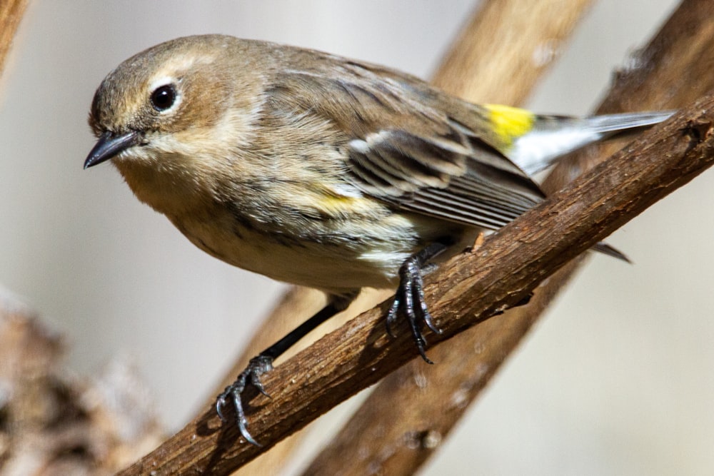
[{"label": "sharply focused brown diagonal branch the bird is gripping", "polygon": [[[713,123],[714,98],[706,97],[429,275],[426,300],[443,335],[428,338],[446,340],[521,302],[568,260],[701,173],[714,162]],[[266,377],[272,398],[256,396],[248,412],[264,447],[243,442],[209,407],[120,474],[228,474],[376,383],[416,355],[407,332],[386,335],[387,306],[351,320]]]}]

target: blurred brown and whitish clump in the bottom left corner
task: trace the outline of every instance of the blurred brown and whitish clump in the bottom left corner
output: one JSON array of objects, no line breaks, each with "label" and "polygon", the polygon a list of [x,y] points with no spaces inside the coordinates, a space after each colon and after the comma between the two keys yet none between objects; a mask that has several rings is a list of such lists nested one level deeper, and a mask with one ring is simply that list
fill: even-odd
[{"label": "blurred brown and whitish clump in the bottom left corner", "polygon": [[0,288],[1,474],[110,474],[163,437],[135,368],[85,380],[63,355],[62,336]]}]

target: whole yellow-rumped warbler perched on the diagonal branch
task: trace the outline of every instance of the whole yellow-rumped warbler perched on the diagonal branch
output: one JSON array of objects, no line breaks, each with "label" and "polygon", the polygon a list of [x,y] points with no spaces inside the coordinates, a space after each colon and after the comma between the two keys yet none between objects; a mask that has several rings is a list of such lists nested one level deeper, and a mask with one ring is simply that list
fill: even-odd
[{"label": "whole yellow-rumped warbler perched on the diagonal branch", "polygon": [[[271,345],[218,396],[263,392],[278,355],[360,289],[396,287],[419,353],[431,321],[421,271],[543,200],[531,175],[556,158],[669,112],[590,118],[478,106],[413,76],[318,51],[231,36],[147,49],[102,81],[84,167],[111,159],[139,200],[198,248],[328,305]],[[472,241],[473,242],[473,241]],[[618,255],[607,245],[598,249]],[[621,256],[621,255],[620,255]]]}]

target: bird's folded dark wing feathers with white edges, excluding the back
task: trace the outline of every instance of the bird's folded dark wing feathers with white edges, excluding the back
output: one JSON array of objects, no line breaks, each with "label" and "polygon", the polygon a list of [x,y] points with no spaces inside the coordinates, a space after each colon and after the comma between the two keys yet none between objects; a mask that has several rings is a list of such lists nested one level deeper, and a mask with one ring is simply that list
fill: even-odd
[{"label": "bird's folded dark wing feathers with white edges, excluding the back", "polygon": [[486,143],[466,145],[386,129],[350,141],[348,167],[363,191],[398,208],[488,229],[543,198],[530,178]]}]

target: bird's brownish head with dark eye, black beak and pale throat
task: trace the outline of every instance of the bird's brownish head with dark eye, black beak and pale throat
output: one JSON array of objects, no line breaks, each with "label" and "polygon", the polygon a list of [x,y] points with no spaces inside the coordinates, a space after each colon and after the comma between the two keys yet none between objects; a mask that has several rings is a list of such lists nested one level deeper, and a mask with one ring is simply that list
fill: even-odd
[{"label": "bird's brownish head with dark eye, black beak and pale throat", "polygon": [[167,194],[204,193],[251,140],[260,81],[247,47],[231,36],[188,36],[117,66],[94,94],[98,141],[84,168],[111,160],[154,208]]}]

